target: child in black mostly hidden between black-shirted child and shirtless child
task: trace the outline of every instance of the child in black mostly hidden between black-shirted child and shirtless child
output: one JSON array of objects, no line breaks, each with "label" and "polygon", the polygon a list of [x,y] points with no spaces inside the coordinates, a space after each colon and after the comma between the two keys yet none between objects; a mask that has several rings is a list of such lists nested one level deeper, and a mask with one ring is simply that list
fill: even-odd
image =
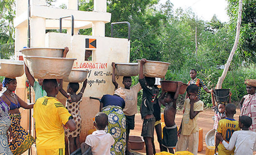
[{"label": "child in black mostly hidden between black-shirted child and shirtless child", "polygon": [[[157,141],[159,143],[159,148],[160,151],[162,151],[162,128],[161,128],[161,103],[158,102],[158,94],[159,94],[159,89],[157,88],[157,85],[154,85],[155,91],[156,91],[156,99],[154,101],[154,117],[156,118],[156,122],[154,124],[155,129],[156,129],[156,136],[157,136]],[[154,154],[156,154],[156,148],[155,148],[155,143],[154,143],[154,136],[152,138],[152,144],[153,144],[153,149],[154,149]]]}]

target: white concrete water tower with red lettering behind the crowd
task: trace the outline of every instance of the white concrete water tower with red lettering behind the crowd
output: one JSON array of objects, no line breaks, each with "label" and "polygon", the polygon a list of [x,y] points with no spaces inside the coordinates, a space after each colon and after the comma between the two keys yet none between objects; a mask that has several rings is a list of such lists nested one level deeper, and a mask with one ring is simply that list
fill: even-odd
[{"label": "white concrete water tower with red lettering behind the crowd", "polygon": [[[105,24],[111,19],[111,13],[107,12],[107,0],[94,0],[94,10],[90,12],[79,11],[77,3],[77,0],[69,0],[67,9],[59,9],[46,6],[45,0],[30,0],[28,9],[28,0],[16,0],[15,58],[19,59],[19,50],[28,45],[29,29],[31,47],[63,48],[68,46],[67,58],[77,58],[73,69],[89,69],[87,87],[83,101],[80,103],[82,116],[80,141],[84,141],[88,131],[93,129],[92,118],[99,112],[100,107],[99,101],[89,97],[101,98],[104,94],[114,93],[111,63],[129,62],[130,40],[105,37]],[[46,33],[48,29],[60,29],[60,25],[61,29],[67,29],[67,33]],[[86,28],[92,28],[92,35],[78,35],[79,29]],[[92,50],[91,61],[85,60],[85,50]],[[117,82],[122,85],[121,79],[119,77]],[[25,75],[17,78],[16,93],[26,101],[25,80]],[[67,83],[64,83],[63,88],[66,89],[66,86]],[[65,98],[60,93],[57,98],[65,103]],[[22,113],[21,125],[28,129],[28,111],[20,111]]]}]

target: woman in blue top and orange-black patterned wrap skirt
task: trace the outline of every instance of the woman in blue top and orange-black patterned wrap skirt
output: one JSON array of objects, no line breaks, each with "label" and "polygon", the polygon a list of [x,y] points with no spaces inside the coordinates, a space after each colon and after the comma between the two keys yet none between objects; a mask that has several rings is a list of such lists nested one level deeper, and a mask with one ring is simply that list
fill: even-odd
[{"label": "woman in blue top and orange-black patterned wrap skirt", "polygon": [[4,78],[3,86],[6,88],[1,98],[10,107],[11,130],[13,133],[13,140],[9,142],[9,148],[14,155],[20,155],[35,142],[35,139],[20,126],[21,115],[19,108],[32,109],[34,104],[28,105],[20,99],[13,91],[17,87],[16,79]]}]

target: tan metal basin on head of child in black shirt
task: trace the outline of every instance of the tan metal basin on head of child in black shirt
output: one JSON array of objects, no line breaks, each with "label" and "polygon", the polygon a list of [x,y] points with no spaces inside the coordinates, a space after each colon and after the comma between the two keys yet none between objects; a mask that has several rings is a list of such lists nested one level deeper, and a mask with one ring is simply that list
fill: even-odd
[{"label": "tan metal basin on head of child in black shirt", "polygon": [[[137,61],[140,68],[140,60]],[[143,75],[148,77],[164,78],[169,65],[170,63],[168,62],[147,60],[143,65]]]}]

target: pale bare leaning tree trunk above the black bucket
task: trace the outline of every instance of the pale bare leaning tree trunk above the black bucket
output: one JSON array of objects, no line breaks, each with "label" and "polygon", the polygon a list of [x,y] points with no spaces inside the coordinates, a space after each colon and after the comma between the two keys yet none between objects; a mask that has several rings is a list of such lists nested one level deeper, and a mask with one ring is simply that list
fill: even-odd
[{"label": "pale bare leaning tree trunk above the black bucket", "polygon": [[236,25],[236,39],[235,39],[235,43],[234,43],[234,46],[229,54],[229,57],[228,57],[228,61],[227,63],[225,64],[225,68],[222,72],[222,75],[220,76],[219,80],[218,80],[218,83],[217,83],[217,87],[216,89],[221,89],[222,87],[222,83],[227,75],[227,72],[228,72],[228,68],[231,64],[231,61],[232,61],[232,58],[235,54],[235,51],[236,51],[236,48],[237,48],[237,45],[238,45],[238,40],[239,40],[239,34],[240,34],[240,26],[241,26],[241,21],[242,21],[242,8],[243,8],[243,1],[242,0],[239,0],[239,9],[238,9],[238,16],[237,16],[237,25]]}]

